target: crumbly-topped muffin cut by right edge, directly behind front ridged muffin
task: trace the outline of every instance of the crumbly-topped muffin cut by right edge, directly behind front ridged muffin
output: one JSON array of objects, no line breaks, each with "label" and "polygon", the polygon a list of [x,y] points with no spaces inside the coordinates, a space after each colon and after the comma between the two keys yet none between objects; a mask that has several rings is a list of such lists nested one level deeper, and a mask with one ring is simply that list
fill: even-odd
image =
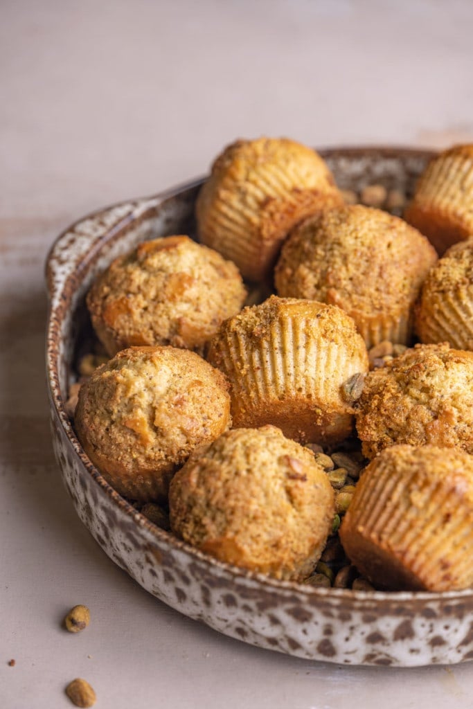
[{"label": "crumbly-topped muffin cut by right edge, directly behind front ridged muffin", "polygon": [[356,406],[367,458],[396,443],[473,453],[473,352],[416,345],[367,374]]}]

